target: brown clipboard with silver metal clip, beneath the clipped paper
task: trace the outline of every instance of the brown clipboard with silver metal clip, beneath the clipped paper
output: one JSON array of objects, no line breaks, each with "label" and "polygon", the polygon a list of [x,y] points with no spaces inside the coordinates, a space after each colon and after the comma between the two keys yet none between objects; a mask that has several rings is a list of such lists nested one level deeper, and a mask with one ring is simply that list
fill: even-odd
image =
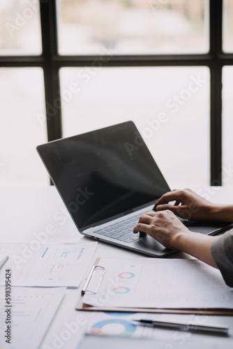
[{"label": "brown clipboard with silver metal clip, beneath the clipped paper", "polygon": [[[89,290],[88,286],[93,276],[93,273],[96,270],[96,267],[105,269],[105,267],[100,266],[100,258],[96,259],[93,267],[91,268],[91,272],[87,277],[87,281],[85,286],[87,287],[87,291],[96,293],[98,292],[98,288],[96,290]],[[98,283],[98,287],[103,279],[103,273],[100,276],[100,281]],[[91,306],[89,304],[84,304],[83,302],[84,294],[81,292],[80,298],[77,301],[75,309],[77,311],[110,311],[110,312],[119,312],[119,313],[174,313],[174,314],[197,314],[197,315],[233,315],[233,309],[160,309],[160,308],[137,308],[137,307],[114,307],[114,306]]]}]

